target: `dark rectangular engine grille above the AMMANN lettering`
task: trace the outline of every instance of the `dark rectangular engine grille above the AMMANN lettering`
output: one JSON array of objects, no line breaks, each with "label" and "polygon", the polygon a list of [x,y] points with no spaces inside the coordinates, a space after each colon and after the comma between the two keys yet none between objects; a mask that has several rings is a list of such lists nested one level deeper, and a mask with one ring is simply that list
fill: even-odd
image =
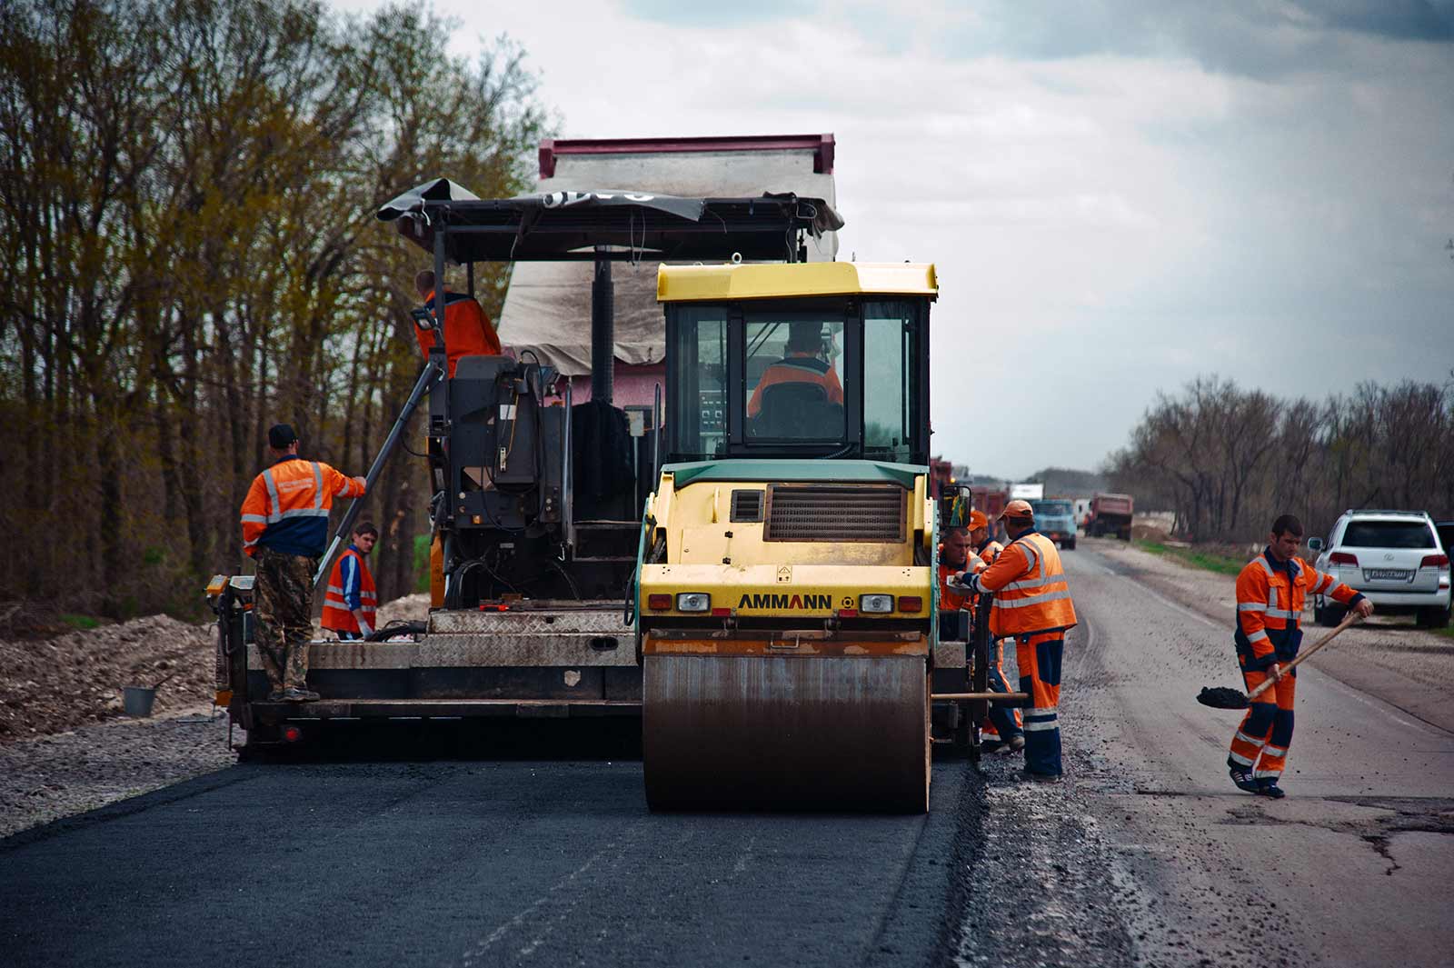
[{"label": "dark rectangular engine grille above the AMMANN lettering", "polygon": [[904,539],[904,491],[893,484],[774,484],[763,541]]}]

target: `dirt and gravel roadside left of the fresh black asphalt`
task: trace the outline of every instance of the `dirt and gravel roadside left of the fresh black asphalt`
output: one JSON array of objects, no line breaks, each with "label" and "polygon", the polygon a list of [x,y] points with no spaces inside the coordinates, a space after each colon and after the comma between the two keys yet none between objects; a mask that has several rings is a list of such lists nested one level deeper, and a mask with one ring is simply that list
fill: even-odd
[{"label": "dirt and gravel roadside left of the fresh black asphalt", "polygon": [[[395,599],[379,624],[427,610],[427,594]],[[212,708],[215,634],[153,615],[0,640],[0,837],[231,766],[227,717]],[[122,715],[124,686],[164,676],[151,718]]]}]

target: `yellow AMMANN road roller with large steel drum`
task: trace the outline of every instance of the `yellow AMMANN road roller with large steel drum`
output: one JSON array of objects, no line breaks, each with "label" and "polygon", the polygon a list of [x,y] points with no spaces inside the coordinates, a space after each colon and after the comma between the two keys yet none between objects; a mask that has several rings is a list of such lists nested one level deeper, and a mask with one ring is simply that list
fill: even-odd
[{"label": "yellow AMMANN road roller with large steel drum", "polygon": [[922,812],[932,265],[662,266],[631,602],[653,810]]}]

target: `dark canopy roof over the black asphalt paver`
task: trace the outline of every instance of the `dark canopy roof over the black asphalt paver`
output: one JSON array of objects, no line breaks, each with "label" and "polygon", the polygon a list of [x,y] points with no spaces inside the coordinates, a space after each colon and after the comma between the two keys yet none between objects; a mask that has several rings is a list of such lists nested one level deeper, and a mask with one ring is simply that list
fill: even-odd
[{"label": "dark canopy roof over the black asphalt paver", "polygon": [[481,199],[449,179],[404,192],[378,209],[401,235],[433,251],[445,225],[445,257],[465,262],[569,262],[595,259],[609,246],[619,260],[792,259],[798,233],[822,237],[842,228],[816,198],[679,198],[650,192],[545,192]]}]

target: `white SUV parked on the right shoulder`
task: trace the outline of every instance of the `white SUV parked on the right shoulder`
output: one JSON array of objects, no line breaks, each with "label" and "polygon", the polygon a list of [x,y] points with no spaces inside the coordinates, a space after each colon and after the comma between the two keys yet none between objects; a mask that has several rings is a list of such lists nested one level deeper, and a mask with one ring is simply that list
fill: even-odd
[{"label": "white SUV parked on the right shoulder", "polygon": [[[1450,624],[1450,560],[1426,513],[1346,510],[1326,548],[1317,538],[1307,548],[1319,571],[1362,592],[1378,613],[1413,613],[1423,628]],[[1343,606],[1313,596],[1313,615],[1319,625],[1336,625]]]}]

